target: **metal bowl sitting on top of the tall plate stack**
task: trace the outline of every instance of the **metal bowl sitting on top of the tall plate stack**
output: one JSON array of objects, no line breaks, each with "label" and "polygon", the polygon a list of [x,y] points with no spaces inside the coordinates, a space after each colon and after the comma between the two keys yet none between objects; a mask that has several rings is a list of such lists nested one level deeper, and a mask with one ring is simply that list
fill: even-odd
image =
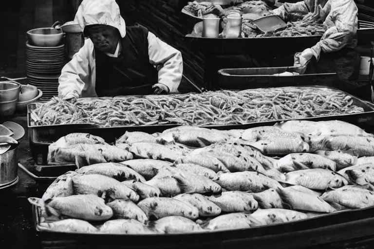
[{"label": "metal bowl sitting on top of the tall plate stack", "polygon": [[40,28],[27,31],[30,45],[38,47],[56,47],[61,44],[64,34],[55,28]]}]

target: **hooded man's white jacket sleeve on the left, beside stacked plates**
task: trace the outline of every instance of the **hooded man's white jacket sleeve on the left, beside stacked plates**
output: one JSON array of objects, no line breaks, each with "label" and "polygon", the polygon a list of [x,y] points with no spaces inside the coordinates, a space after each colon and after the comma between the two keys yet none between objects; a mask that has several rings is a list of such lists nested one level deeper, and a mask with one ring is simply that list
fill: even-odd
[{"label": "hooded man's white jacket sleeve on the left, beside stacked plates", "polygon": [[86,39],[83,47],[61,70],[58,78],[58,97],[67,100],[82,96],[85,85],[90,84],[92,57],[93,43],[90,39]]}]

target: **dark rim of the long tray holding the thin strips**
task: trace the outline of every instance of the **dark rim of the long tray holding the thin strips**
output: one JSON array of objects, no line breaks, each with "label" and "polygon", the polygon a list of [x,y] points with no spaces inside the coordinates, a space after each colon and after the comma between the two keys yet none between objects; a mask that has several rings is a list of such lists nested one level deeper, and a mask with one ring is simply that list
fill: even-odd
[{"label": "dark rim of the long tray holding the thin strips", "polygon": [[[323,86],[303,86],[300,88],[322,88],[322,89],[334,89],[335,88],[323,87]],[[334,120],[339,119],[359,126],[370,126],[374,125],[374,104],[357,98],[351,94],[344,92],[348,96],[352,97],[354,103],[358,107],[362,107],[364,112],[354,113],[354,114],[340,114],[340,115],[330,115],[330,116],[319,116],[319,117],[309,117],[309,118],[299,118],[296,120],[311,120],[311,121],[321,121],[321,120]],[[32,106],[30,106],[32,107]],[[29,117],[28,117],[29,118]],[[276,120],[276,121],[264,121],[264,122],[254,122],[245,125],[206,125],[202,126],[210,129],[218,130],[229,130],[229,129],[247,129],[255,126],[262,125],[274,125],[277,122],[286,120]],[[106,142],[115,142],[115,139],[122,136],[126,131],[143,131],[147,133],[163,132],[164,130],[179,125],[143,125],[143,126],[114,126],[100,128],[93,125],[48,125],[48,126],[30,126],[30,120],[28,120],[28,134],[30,142],[30,150],[32,153],[32,158],[36,164],[47,165],[48,157],[48,146],[52,142],[56,142],[60,137],[63,137],[69,133],[82,132],[90,133],[95,136],[103,138]],[[365,127],[365,128],[367,128]],[[39,162],[39,155],[41,155],[42,161]]]}]

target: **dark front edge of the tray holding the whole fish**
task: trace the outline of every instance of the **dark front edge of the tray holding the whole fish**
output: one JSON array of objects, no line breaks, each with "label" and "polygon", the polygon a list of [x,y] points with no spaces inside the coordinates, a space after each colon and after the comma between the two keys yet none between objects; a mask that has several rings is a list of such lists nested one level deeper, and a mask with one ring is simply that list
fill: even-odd
[{"label": "dark front edge of the tray holding the whole fish", "polygon": [[331,244],[374,234],[373,207],[251,229],[160,235],[39,231],[39,211],[32,209],[42,249],[331,249]]}]

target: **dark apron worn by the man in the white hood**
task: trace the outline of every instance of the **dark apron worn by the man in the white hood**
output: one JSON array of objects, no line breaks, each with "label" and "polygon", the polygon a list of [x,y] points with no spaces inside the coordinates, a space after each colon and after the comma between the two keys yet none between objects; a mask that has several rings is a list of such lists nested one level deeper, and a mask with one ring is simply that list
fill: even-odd
[{"label": "dark apron worn by the man in the white hood", "polygon": [[158,81],[158,71],[150,64],[148,40],[139,33],[127,32],[122,39],[122,53],[110,57],[95,49],[96,85],[98,97],[152,94]]}]

